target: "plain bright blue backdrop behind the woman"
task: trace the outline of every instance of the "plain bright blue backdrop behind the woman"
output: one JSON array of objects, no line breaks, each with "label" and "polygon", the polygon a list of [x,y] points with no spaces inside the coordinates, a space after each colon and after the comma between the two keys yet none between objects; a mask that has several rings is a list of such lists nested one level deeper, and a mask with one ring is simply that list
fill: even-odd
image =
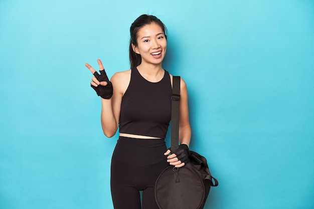
[{"label": "plain bright blue backdrop behind the woman", "polygon": [[1,0],[0,208],[112,208],[117,136],[84,64],[127,70],[141,14],[168,27],[164,68],[188,85],[191,149],[219,180],[205,208],[314,208],[309,0]]}]

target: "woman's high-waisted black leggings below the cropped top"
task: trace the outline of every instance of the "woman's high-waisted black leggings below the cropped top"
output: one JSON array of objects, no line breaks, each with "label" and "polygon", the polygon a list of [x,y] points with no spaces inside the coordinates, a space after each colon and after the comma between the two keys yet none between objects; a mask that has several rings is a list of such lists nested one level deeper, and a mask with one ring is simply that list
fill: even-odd
[{"label": "woman's high-waisted black leggings below the cropped top", "polygon": [[[119,137],[111,159],[115,209],[158,209],[154,186],[159,174],[169,166],[166,151],[164,139]],[[139,191],[143,191],[142,202]]]}]

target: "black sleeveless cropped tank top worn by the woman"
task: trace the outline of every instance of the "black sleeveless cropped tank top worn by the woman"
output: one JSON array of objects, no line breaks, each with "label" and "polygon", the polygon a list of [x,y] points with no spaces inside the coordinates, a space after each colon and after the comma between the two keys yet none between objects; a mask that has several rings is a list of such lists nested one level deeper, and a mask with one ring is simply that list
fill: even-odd
[{"label": "black sleeveless cropped tank top worn by the woman", "polygon": [[171,120],[172,86],[165,71],[163,79],[153,83],[144,79],[137,68],[131,69],[131,79],[120,110],[119,132],[166,138]]}]

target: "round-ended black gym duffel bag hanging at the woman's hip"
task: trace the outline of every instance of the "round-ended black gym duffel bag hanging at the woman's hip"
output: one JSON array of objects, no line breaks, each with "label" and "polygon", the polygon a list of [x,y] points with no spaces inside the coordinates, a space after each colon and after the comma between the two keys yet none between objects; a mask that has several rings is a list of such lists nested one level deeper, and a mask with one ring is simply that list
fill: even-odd
[{"label": "round-ended black gym duffel bag hanging at the woman's hip", "polygon": [[167,167],[157,179],[155,199],[160,209],[203,209],[211,186],[218,186],[205,157],[190,151],[189,159],[183,167]]}]

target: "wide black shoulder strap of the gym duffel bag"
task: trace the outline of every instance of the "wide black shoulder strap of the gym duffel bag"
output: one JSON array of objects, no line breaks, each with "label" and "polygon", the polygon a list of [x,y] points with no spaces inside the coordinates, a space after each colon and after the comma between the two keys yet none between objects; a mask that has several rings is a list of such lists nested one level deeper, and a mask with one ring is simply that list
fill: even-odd
[{"label": "wide black shoulder strap of the gym duffel bag", "polygon": [[171,150],[179,148],[180,76],[173,76],[171,103]]}]

